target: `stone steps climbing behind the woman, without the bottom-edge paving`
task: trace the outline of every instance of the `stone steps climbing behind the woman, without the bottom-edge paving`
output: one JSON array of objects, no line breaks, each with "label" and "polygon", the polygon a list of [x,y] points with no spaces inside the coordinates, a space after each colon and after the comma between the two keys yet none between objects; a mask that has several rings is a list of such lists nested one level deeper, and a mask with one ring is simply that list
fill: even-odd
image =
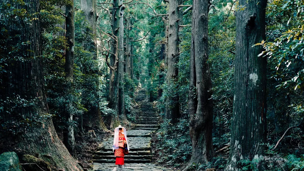
[{"label": "stone steps climbing behind the woman, without the bottom-edge paving", "polygon": [[[153,103],[145,102],[145,98],[146,91],[141,89],[135,98],[140,108],[139,120],[131,130],[127,130],[130,151],[125,156],[126,163],[150,163],[152,160],[150,133],[159,128],[159,115],[153,108]],[[115,163],[112,151],[113,136],[98,145],[93,155],[93,162]]]}]

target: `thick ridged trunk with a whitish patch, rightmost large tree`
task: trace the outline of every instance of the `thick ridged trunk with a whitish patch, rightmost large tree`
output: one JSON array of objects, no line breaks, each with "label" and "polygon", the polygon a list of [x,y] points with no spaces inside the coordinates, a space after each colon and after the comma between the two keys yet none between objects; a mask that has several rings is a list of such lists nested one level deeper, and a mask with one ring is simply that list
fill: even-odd
[{"label": "thick ridged trunk with a whitish patch, rightmost large tree", "polygon": [[266,137],[266,58],[258,57],[265,40],[266,0],[240,0],[236,12],[236,58],[230,155],[225,171],[241,170],[241,159],[261,157]]}]

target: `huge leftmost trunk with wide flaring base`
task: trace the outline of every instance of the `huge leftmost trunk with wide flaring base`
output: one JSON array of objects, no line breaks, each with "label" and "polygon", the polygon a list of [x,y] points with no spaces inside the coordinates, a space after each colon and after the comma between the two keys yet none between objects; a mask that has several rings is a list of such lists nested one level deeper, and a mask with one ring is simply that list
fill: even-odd
[{"label": "huge leftmost trunk with wide flaring base", "polygon": [[[1,4],[3,2],[0,1]],[[30,23],[20,20],[18,24],[12,24],[7,28],[9,35],[21,35],[20,38],[13,39],[8,46],[27,41],[30,41],[30,44],[23,45],[19,51],[11,54],[9,54],[10,48],[6,48],[7,52],[4,52],[9,58],[6,61],[8,66],[2,65],[7,72],[1,76],[0,99],[12,101],[4,103],[4,110],[8,112],[0,115],[2,147],[4,145],[6,149],[19,149],[22,154],[37,156],[58,169],[82,171],[83,169],[58,138],[48,114],[41,55],[39,0],[24,0],[24,2],[27,5],[19,6],[19,9],[26,9],[29,14],[34,14],[31,17],[38,19]],[[24,60],[10,60],[16,56]],[[13,101],[21,99],[24,99],[23,102],[28,105],[16,106]],[[25,124],[26,122],[30,125]],[[0,151],[3,152],[3,149]]]}]

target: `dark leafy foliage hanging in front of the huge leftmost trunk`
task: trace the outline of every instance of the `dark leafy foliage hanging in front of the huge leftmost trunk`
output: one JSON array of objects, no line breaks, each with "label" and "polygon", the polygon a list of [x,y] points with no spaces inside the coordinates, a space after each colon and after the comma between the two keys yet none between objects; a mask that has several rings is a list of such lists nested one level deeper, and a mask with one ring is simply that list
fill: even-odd
[{"label": "dark leafy foliage hanging in front of the huge leftmost trunk", "polygon": [[[10,0],[0,3],[0,87],[2,89],[3,81],[11,79],[7,68],[13,67],[18,62],[28,62],[36,56],[31,55],[29,50],[29,40],[22,42],[21,37],[25,25],[33,24],[38,19],[38,13],[26,11],[26,3],[22,0]],[[28,53],[20,53],[28,51]],[[8,90],[6,90],[8,91]],[[1,131],[12,132],[17,134],[20,131],[29,130],[33,125],[40,125],[44,120],[53,116],[46,113],[32,113],[29,117],[20,111],[26,108],[31,110],[39,104],[39,98],[21,97],[19,94],[11,94],[9,97],[0,99],[1,117],[13,115],[13,121],[4,121],[1,117]],[[5,115],[4,115],[5,114]]]}]

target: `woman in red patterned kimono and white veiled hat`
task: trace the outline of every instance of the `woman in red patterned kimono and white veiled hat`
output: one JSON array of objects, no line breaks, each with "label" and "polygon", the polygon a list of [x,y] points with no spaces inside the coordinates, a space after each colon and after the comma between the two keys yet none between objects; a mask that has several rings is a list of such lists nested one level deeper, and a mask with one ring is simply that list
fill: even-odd
[{"label": "woman in red patterned kimono and white veiled hat", "polygon": [[116,156],[115,164],[119,167],[124,165],[124,159],[126,154],[126,148],[129,151],[129,144],[127,139],[126,128],[119,125],[114,130],[114,142],[113,142],[113,152]]}]

